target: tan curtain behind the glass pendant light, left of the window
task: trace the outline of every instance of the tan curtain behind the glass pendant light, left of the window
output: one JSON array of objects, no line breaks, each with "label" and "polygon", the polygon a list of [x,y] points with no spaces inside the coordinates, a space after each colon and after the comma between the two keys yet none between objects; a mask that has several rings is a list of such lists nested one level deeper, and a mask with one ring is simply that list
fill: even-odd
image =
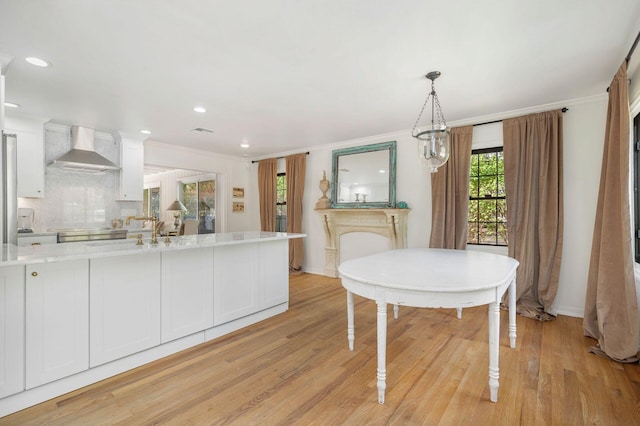
[{"label": "tan curtain behind the glass pendant light, left of the window", "polygon": [[431,173],[429,247],[464,250],[469,228],[469,162],[473,126],[451,129],[449,161]]}]

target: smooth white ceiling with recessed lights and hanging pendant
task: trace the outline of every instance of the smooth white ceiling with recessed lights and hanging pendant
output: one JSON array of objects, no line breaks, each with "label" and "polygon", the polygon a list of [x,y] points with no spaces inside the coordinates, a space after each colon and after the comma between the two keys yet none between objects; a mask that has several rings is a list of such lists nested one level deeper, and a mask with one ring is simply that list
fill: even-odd
[{"label": "smooth white ceiling with recessed lights and hanging pendant", "polygon": [[23,113],[252,158],[411,129],[433,70],[449,122],[602,94],[639,30],[638,0],[0,0]]}]

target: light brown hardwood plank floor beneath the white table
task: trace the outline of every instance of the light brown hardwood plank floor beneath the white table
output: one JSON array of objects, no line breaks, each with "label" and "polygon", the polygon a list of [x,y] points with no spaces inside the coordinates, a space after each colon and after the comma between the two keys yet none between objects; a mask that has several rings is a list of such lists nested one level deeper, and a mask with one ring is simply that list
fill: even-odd
[{"label": "light brown hardwood plank floor beneath the white table", "polygon": [[338,279],[292,276],[290,309],[233,334],[0,419],[6,425],[637,425],[640,367],[588,353],[582,321],[501,313],[489,401],[487,308],[389,312],[387,392],[376,391],[376,308],[356,296],[346,337]]}]

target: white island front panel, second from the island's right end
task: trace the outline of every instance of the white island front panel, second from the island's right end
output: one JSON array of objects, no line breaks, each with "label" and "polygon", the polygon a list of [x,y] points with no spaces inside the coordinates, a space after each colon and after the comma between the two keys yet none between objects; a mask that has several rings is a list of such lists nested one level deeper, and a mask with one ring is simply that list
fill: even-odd
[{"label": "white island front panel, second from the island's right end", "polygon": [[214,249],[214,325],[259,310],[260,249],[257,244],[238,244]]}]

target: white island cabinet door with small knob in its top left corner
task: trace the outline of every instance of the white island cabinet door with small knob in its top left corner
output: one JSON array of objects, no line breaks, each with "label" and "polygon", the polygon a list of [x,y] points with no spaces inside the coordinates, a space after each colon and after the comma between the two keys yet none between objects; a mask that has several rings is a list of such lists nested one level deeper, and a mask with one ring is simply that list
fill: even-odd
[{"label": "white island cabinet door with small knob in its top left corner", "polygon": [[26,388],[89,368],[89,261],[26,266]]}]

